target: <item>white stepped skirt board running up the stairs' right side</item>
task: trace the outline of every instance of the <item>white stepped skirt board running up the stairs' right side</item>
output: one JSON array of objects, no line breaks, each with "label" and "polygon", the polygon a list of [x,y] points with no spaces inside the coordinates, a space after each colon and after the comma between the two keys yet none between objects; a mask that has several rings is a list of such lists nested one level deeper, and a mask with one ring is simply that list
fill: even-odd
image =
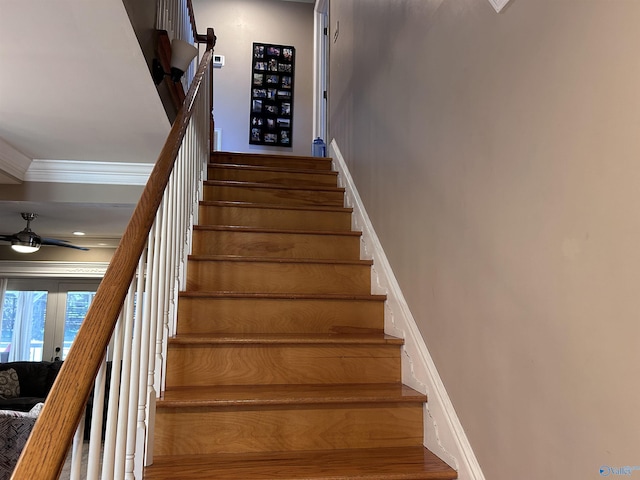
[{"label": "white stepped skirt board running up the stairs' right side", "polygon": [[353,208],[354,230],[362,231],[362,255],[373,259],[372,291],[387,295],[385,332],[405,340],[402,381],[428,396],[424,417],[425,446],[455,468],[460,480],[484,480],[484,474],[335,139],[329,147],[329,156],[333,158],[334,168],[339,172],[339,184],[346,190],[346,204]]}]

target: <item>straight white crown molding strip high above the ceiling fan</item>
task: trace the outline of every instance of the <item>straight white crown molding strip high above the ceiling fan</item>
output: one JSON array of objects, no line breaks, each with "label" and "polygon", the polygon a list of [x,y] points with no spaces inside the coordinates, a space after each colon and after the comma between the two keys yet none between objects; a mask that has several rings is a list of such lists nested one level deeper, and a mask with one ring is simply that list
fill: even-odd
[{"label": "straight white crown molding strip high above the ceiling fan", "polygon": [[145,185],[153,169],[150,163],[34,160],[27,170],[28,182]]}]

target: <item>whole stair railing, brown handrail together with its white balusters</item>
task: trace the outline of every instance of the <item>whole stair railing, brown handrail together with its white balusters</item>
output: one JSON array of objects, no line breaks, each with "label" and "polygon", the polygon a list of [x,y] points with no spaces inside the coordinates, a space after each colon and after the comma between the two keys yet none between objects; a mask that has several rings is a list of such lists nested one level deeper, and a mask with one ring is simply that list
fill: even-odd
[{"label": "whole stair railing, brown handrail together with its white balusters", "polygon": [[[72,438],[67,463],[71,479],[141,479],[144,465],[153,461],[155,400],[164,384],[166,340],[175,331],[177,296],[211,145],[213,29],[200,40],[204,38],[206,51],[183,106],[13,480],[58,479]],[[92,407],[85,409],[90,396]],[[86,461],[85,410],[91,414]]]}]

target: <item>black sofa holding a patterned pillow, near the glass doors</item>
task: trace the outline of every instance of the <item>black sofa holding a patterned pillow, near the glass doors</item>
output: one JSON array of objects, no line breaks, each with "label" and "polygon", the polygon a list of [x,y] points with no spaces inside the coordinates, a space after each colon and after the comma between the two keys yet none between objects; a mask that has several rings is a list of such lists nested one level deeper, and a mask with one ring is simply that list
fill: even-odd
[{"label": "black sofa holding a patterned pillow, near the glass doors", "polygon": [[49,394],[62,362],[8,362],[0,363],[0,371],[13,368],[18,374],[20,396],[0,398],[0,410],[28,412]]}]

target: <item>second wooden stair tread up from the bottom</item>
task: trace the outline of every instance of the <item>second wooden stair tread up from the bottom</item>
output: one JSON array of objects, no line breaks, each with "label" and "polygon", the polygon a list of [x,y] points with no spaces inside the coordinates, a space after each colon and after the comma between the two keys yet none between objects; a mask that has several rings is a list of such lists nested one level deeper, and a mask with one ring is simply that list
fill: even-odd
[{"label": "second wooden stair tread up from the bottom", "polygon": [[159,408],[275,406],[353,403],[410,403],[426,395],[402,383],[360,385],[221,385],[174,387],[158,401]]}]

